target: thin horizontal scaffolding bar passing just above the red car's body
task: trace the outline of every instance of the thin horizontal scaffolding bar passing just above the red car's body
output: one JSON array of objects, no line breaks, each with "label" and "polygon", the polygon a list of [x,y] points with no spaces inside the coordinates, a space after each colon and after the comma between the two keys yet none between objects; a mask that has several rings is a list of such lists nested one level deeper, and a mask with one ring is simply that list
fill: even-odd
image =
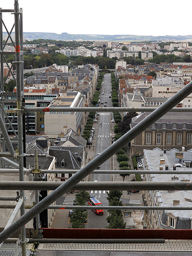
[{"label": "thin horizontal scaffolding bar passing just above the red car's body", "polygon": [[[138,203],[130,203],[138,204]],[[13,209],[13,205],[0,205],[0,209]],[[25,209],[31,209],[34,206],[25,205]],[[64,206],[64,205],[54,205],[48,206],[46,209],[58,209],[58,210],[187,210],[191,211],[192,206]]]}]

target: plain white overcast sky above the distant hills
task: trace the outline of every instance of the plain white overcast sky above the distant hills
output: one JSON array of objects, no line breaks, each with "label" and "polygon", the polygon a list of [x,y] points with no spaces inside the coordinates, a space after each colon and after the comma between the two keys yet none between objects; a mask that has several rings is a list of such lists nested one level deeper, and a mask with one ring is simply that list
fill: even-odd
[{"label": "plain white overcast sky above the distant hills", "polygon": [[[192,1],[185,0],[18,0],[24,32],[91,35],[186,36],[192,34]],[[14,9],[14,0],[0,8]],[[10,31],[14,15],[3,12]],[[5,32],[5,28],[3,27]]]}]

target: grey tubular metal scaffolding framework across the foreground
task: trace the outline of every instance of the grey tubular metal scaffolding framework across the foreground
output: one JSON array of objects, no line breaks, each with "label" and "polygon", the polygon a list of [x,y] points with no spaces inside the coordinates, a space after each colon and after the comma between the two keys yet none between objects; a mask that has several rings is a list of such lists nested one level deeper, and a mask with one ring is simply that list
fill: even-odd
[{"label": "grey tubular metal scaffolding framework across the foreground", "polygon": [[[3,22],[2,14],[4,12],[11,12],[14,14],[14,24],[12,26],[11,31],[9,32],[5,23]],[[40,223],[39,223],[39,214],[44,209],[56,209],[56,208],[62,208],[61,206],[50,206],[52,203],[56,201],[61,195],[69,191],[70,189],[81,189],[81,190],[89,190],[89,189],[100,189],[103,188],[105,185],[105,188],[110,190],[127,190],[129,189],[139,189],[139,190],[192,190],[192,184],[190,182],[185,183],[153,183],[153,182],[146,182],[146,183],[135,183],[135,182],[127,182],[127,183],[116,183],[116,182],[108,182],[108,183],[81,183],[81,181],[90,173],[135,173],[135,171],[110,171],[110,170],[103,170],[103,171],[95,171],[98,166],[103,164],[105,161],[107,161],[109,158],[111,158],[117,151],[119,151],[123,146],[126,146],[129,142],[132,141],[138,134],[142,133],[147,127],[149,127],[152,123],[156,122],[159,118],[161,118],[164,114],[166,114],[168,111],[192,111],[192,109],[182,109],[182,108],[174,108],[182,99],[186,98],[189,94],[192,93],[192,82],[190,82],[188,85],[183,87],[177,94],[169,98],[164,104],[162,104],[158,108],[27,108],[24,106],[24,84],[23,84],[23,70],[24,70],[24,62],[23,62],[23,12],[22,9],[19,9],[19,3],[18,0],[14,0],[14,10],[2,10],[0,9],[0,130],[1,130],[1,152],[0,152],[0,173],[19,173],[19,182],[7,182],[6,184],[3,182],[0,182],[0,190],[19,190],[19,195],[16,197],[0,197],[0,200],[18,200],[17,206],[12,207],[10,205],[1,206],[0,208],[14,208],[14,213],[12,218],[7,223],[5,229],[0,233],[0,244],[3,243],[6,239],[8,239],[12,234],[14,234],[18,229],[21,228],[21,239],[20,243],[22,244],[22,255],[26,255],[26,243],[29,241],[26,238],[25,234],[25,224],[28,223],[31,219],[37,217],[36,221],[36,230],[39,230]],[[8,38],[5,41],[3,45],[3,26],[5,27]],[[12,30],[15,29],[15,41],[12,40]],[[4,51],[5,45],[8,42],[8,39],[12,41],[12,44],[15,48],[15,52],[6,52]],[[12,67],[9,66],[6,55],[7,54],[14,54],[15,55],[15,61],[13,61],[13,64],[15,64],[16,67],[16,78],[14,77],[14,74],[12,73]],[[13,79],[16,81],[16,88],[17,88],[17,94],[16,94],[16,103],[17,103],[17,109],[15,110],[17,113],[17,119],[18,119],[18,133],[15,132],[16,138],[18,140],[18,151],[15,151],[12,146],[12,142],[10,140],[10,137],[8,135],[8,130],[5,127],[4,120],[6,117],[6,113],[4,111],[3,101],[4,101],[4,85],[8,78],[8,75],[4,79],[3,77],[3,63],[7,64],[7,67],[9,68],[9,73],[12,74]],[[90,112],[90,111],[98,111],[98,112],[127,112],[127,111],[150,111],[151,113],[140,123],[138,123],[136,126],[134,126],[129,132],[124,134],[120,139],[116,141],[115,144],[112,144],[107,149],[105,149],[100,155],[98,155],[96,158],[94,158],[92,161],[90,161],[86,166],[84,166],[79,171],[74,171],[75,173],[70,179],[68,179],[64,183],[60,182],[51,182],[48,184],[48,182],[37,182],[38,175],[40,173],[66,173],[66,170],[60,170],[60,171],[52,171],[52,170],[39,170],[38,169],[38,161],[37,161],[37,152],[35,153],[35,169],[29,170],[26,169],[24,166],[24,157],[25,157],[25,129],[24,129],[24,113],[25,112],[37,112],[37,111],[70,111],[70,112],[76,112],[76,111],[83,111],[83,112]],[[12,127],[12,122],[10,122],[9,127]],[[9,128],[8,128],[9,129]],[[12,127],[14,130],[14,128]],[[9,152],[6,152],[5,145],[8,148]],[[7,157],[11,157],[11,159],[8,159]],[[12,164],[16,169],[6,169],[6,164]],[[69,172],[69,171],[68,171]],[[70,171],[72,172],[72,171]],[[24,182],[24,174],[25,173],[34,173],[35,180],[34,182]],[[146,171],[138,171],[138,173],[146,173]],[[155,171],[147,171],[147,173],[155,173]],[[159,172],[157,172],[159,173]],[[161,171],[162,174],[170,173],[169,171]],[[182,172],[182,171],[171,171],[171,173],[192,173],[191,171]],[[38,190],[39,189],[44,190],[54,190],[51,194],[49,194],[46,198],[38,202]],[[24,200],[26,197],[24,196],[25,190],[34,189],[36,191],[36,205],[35,206],[25,206]],[[90,207],[90,206],[70,206],[65,207],[65,209],[94,209],[97,207]],[[125,209],[125,207],[102,207],[102,209]],[[13,222],[15,214],[20,209],[21,211],[21,217]],[[27,212],[25,209],[29,209]],[[129,209],[129,207],[126,206],[126,209]],[[172,209],[172,207],[131,207],[131,209]],[[186,209],[186,210],[192,210],[192,207],[174,207],[174,209]],[[93,242],[93,241],[92,241]]]}]

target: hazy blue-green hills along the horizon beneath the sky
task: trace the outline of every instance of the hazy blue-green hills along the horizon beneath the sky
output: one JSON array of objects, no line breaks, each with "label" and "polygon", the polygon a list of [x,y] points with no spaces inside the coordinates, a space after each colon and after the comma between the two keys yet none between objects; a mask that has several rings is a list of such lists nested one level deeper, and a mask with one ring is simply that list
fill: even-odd
[{"label": "hazy blue-green hills along the horizon beneath the sky", "polygon": [[[4,35],[6,33],[3,33]],[[12,33],[14,34],[14,33]],[[85,35],[85,34],[56,34],[56,33],[41,33],[41,32],[24,32],[24,39],[50,39],[50,40],[102,40],[102,41],[182,41],[192,40],[192,35],[188,36],[136,36],[136,35]]]}]

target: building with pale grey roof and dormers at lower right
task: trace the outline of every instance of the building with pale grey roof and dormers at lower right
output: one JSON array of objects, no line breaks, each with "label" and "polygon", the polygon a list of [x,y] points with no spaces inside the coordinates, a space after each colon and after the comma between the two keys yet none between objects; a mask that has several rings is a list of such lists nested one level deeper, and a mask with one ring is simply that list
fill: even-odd
[{"label": "building with pale grey roof and dormers at lower right", "polygon": [[[192,171],[192,150],[170,151],[144,149],[144,170],[159,171],[159,174],[145,174],[143,182],[186,182],[192,181],[191,174],[160,174],[163,170]],[[143,191],[144,206],[192,206],[192,191]],[[145,210],[143,221],[147,229],[192,229],[192,211]]]}]

